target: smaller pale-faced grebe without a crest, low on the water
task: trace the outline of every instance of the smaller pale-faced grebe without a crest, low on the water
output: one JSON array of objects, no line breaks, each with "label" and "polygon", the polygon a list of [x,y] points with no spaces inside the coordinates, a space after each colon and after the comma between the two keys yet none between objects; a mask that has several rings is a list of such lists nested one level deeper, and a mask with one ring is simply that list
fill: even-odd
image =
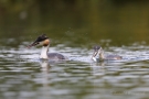
[{"label": "smaller pale-faced grebe without a crest, low on the water", "polygon": [[108,56],[105,56],[102,46],[94,46],[93,48],[94,48],[94,53],[93,53],[92,59],[94,62],[99,62],[99,61],[119,61],[119,59],[123,59],[123,57],[119,56],[119,55],[108,55]]}]

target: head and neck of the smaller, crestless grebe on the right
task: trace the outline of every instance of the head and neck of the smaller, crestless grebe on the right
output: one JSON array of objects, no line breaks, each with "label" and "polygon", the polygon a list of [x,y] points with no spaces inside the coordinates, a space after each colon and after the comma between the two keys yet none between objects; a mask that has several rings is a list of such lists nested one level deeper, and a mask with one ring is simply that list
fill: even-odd
[{"label": "head and neck of the smaller, crestless grebe on the right", "polygon": [[[95,46],[93,47],[93,50],[94,50],[94,53],[93,53],[93,56],[92,56],[92,59],[93,59],[93,61],[97,62],[97,61],[104,58],[104,52],[103,52],[103,50],[102,50],[102,46],[95,45]],[[100,57],[102,57],[102,58],[100,58]]]}]

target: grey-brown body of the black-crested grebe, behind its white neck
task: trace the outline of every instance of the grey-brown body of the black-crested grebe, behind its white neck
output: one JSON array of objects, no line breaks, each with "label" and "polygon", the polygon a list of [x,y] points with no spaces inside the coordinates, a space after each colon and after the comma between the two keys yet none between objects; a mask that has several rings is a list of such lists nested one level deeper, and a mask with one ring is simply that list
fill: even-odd
[{"label": "grey-brown body of the black-crested grebe, behind its white neck", "polygon": [[47,53],[50,59],[66,59],[66,57],[58,53]]}]

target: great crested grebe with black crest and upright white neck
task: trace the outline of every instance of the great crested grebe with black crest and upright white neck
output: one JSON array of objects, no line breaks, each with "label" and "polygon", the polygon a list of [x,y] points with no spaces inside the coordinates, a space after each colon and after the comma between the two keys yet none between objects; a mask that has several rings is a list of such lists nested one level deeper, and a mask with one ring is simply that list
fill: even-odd
[{"label": "great crested grebe with black crest and upright white neck", "polygon": [[58,53],[47,53],[49,52],[49,47],[50,47],[50,38],[45,34],[40,35],[28,47],[32,47],[32,46],[35,46],[35,45],[42,45],[42,51],[41,51],[41,55],[40,55],[41,59],[51,59],[51,61],[64,61],[64,59],[67,59],[62,54],[58,54]]}]

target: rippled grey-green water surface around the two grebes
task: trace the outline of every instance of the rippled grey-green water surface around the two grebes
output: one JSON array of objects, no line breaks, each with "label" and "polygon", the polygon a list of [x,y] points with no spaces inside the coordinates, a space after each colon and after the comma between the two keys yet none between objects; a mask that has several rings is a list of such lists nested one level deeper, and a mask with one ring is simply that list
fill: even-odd
[{"label": "rippled grey-green water surface around the two grebes", "polygon": [[[1,46],[0,97],[4,99],[140,99],[149,90],[149,46],[105,47],[106,54],[120,54],[125,62],[94,63],[93,50],[51,46],[71,58],[63,63],[40,62],[40,47]],[[138,47],[139,46],[139,47]],[[43,67],[44,66],[44,67]]]}]

